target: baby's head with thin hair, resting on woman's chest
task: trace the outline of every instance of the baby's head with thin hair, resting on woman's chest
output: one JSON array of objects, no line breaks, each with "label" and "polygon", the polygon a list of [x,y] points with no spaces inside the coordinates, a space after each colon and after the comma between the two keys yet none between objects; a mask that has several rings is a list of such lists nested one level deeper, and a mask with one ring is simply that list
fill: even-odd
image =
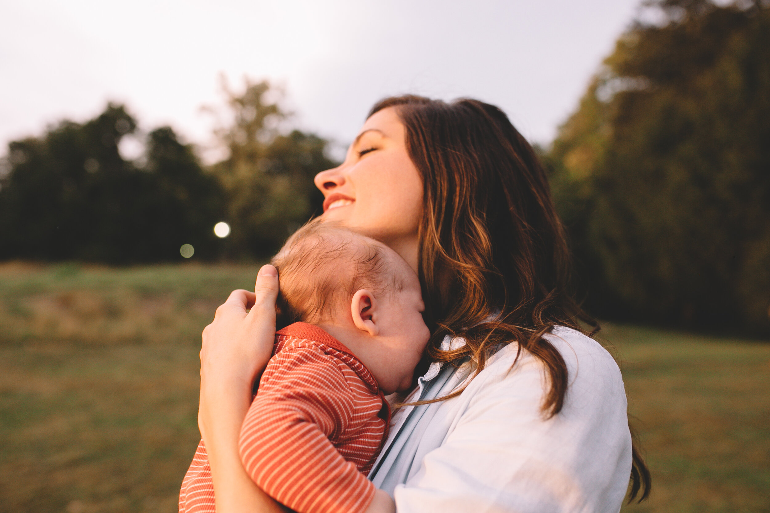
[{"label": "baby's head with thin hair, resting on woman's chest", "polygon": [[316,220],[297,230],[272,263],[280,324],[325,329],[386,393],[410,387],[430,331],[420,281],[403,258],[373,238]]}]

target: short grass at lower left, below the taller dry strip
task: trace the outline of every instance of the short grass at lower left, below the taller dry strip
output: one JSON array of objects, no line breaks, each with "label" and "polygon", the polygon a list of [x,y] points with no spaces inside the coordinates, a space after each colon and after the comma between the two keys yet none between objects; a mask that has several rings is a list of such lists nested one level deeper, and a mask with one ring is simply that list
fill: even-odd
[{"label": "short grass at lower left, below the taller dry strip", "polygon": [[199,439],[197,349],[0,348],[0,511],[174,511]]}]

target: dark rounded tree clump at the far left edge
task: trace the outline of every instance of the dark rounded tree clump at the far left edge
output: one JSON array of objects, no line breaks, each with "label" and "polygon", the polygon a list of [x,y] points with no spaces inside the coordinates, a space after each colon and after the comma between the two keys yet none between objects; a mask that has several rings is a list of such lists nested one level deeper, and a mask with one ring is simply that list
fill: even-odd
[{"label": "dark rounded tree clump at the far left edge", "polygon": [[122,105],[40,138],[11,142],[0,181],[0,258],[109,263],[213,258],[222,193],[171,128],[147,137],[145,168],[119,152],[136,121]]}]

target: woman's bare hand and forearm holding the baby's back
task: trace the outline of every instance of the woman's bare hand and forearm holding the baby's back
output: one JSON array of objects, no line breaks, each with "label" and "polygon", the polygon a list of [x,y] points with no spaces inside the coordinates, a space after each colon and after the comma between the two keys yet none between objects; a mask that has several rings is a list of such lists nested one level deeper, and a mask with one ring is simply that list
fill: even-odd
[{"label": "woman's bare hand and forearm holding the baby's back", "polygon": [[238,450],[254,381],[273,352],[277,296],[278,272],[264,265],[254,292],[233,291],[203,330],[198,426],[209,455],[219,513],[283,511],[246,474]]}]

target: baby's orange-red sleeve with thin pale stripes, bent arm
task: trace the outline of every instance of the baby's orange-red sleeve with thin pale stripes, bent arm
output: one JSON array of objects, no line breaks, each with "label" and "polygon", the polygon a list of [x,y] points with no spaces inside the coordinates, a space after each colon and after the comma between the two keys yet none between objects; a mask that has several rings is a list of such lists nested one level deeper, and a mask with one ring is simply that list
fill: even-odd
[{"label": "baby's orange-red sleeve with thin pale stripes, bent arm", "polygon": [[268,495],[298,513],[363,513],[374,485],[334,448],[355,398],[334,358],[287,348],[265,369],[240,436],[240,455]]}]

